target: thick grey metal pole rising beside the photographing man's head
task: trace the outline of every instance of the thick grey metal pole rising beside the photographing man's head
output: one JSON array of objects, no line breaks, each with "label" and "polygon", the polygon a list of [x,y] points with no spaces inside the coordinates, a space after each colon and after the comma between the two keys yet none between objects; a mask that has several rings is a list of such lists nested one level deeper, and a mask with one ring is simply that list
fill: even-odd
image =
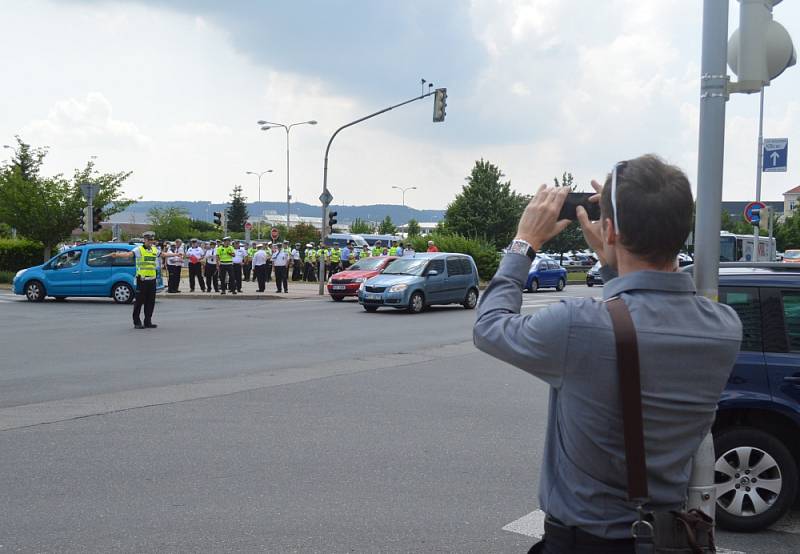
[{"label": "thick grey metal pole rising beside the photographing man's head", "polygon": [[719,298],[719,231],[729,80],[727,35],[727,0],[703,0],[694,281],[697,292],[714,301]]}]

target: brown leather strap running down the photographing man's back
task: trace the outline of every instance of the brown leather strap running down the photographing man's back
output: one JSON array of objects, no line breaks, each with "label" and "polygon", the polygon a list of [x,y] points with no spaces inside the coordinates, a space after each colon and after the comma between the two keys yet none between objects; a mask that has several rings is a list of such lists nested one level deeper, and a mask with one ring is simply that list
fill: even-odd
[{"label": "brown leather strap running down the photographing man's back", "polygon": [[625,466],[628,471],[628,500],[646,499],[642,390],[639,379],[639,346],[628,306],[620,297],[606,302],[617,345],[619,392],[622,399],[622,427],[625,437]]}]

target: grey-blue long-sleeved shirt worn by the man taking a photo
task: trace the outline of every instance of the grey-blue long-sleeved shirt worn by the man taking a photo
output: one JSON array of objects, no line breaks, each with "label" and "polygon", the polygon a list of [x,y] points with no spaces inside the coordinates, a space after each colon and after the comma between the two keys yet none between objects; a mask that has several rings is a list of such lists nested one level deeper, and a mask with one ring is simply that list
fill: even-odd
[{"label": "grey-blue long-sleeved shirt worn by the man taking a photo", "polygon": [[[636,505],[627,475],[611,317],[594,298],[520,315],[531,262],[507,254],[486,290],[475,345],[550,385],[539,504],[566,525],[630,538]],[[605,299],[621,296],[639,341],[648,506],[684,504],[691,458],[708,433],[739,350],[728,306],[695,294],[686,273],[601,272]]]}]

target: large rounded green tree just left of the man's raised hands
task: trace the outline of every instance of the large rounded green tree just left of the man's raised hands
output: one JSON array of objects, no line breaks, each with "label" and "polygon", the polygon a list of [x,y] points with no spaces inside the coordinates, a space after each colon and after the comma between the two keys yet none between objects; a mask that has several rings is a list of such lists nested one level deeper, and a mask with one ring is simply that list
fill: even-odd
[{"label": "large rounded green tree just left of the man's raised hands", "polygon": [[511,190],[511,182],[502,181],[504,176],[496,165],[476,161],[467,184],[447,206],[444,230],[483,238],[497,248],[511,242],[529,198]]}]

